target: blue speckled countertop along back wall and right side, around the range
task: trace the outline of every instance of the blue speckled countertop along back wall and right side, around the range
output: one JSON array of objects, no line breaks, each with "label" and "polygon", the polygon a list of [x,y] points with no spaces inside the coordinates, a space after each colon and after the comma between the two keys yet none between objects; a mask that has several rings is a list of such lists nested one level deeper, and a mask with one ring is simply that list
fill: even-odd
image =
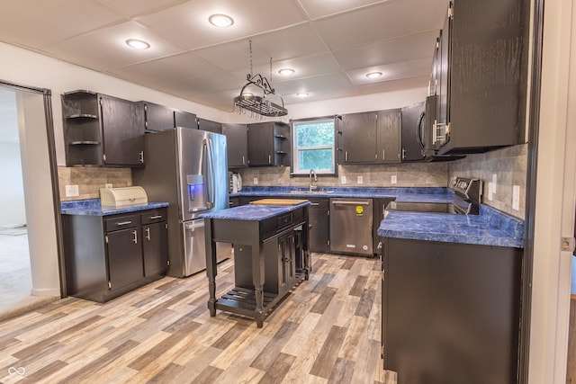
[{"label": "blue speckled countertop along back wall and right side, around the range", "polygon": [[[450,202],[453,201],[454,192],[447,188],[436,187],[326,187],[319,188],[313,193],[308,193],[307,189],[302,187],[250,186],[243,189],[242,192],[230,194],[230,197],[234,196],[393,198],[396,201]],[[523,248],[524,221],[486,205],[481,206],[479,215],[468,216],[446,213],[392,211],[380,223],[378,235],[382,237]]]}]

